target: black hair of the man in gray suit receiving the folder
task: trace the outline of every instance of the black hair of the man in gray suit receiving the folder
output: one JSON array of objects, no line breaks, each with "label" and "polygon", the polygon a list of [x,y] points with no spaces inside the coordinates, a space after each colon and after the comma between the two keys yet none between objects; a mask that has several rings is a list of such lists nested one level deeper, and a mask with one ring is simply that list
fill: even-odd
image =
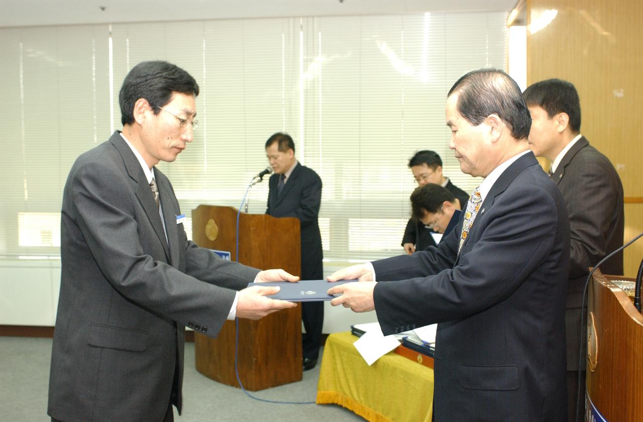
[{"label": "black hair of the man in gray suit receiving the folder", "polygon": [[121,123],[134,123],[134,104],[140,98],[145,98],[158,115],[161,111],[158,107],[168,104],[174,93],[198,96],[199,85],[190,73],[176,64],[161,60],[137,64],[127,73],[118,94]]}]

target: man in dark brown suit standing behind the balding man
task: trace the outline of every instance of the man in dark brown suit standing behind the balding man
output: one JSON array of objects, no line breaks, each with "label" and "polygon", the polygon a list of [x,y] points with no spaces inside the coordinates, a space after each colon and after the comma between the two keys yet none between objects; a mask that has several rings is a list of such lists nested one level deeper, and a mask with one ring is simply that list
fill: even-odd
[{"label": "man in dark brown suit standing behind the balding man", "polygon": [[[572,230],[569,290],[566,302],[567,379],[570,421],[582,411],[585,391],[586,327],[581,309],[588,268],[623,245],[623,186],[610,160],[581,135],[581,104],[570,82],[548,79],[524,93],[531,113],[529,145],[536,156],[552,162],[550,175],[563,194]],[[607,274],[623,273],[623,253],[601,266]],[[582,340],[581,340],[582,339]],[[577,397],[579,344],[581,395]]]}]

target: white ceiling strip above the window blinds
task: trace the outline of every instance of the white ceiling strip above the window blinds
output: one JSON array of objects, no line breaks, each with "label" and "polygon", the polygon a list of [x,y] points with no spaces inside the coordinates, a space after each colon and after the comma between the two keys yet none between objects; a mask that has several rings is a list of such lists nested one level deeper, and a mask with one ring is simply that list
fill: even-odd
[{"label": "white ceiling strip above the window blinds", "polygon": [[[518,0],[0,0],[1,26],[511,10]],[[103,10],[104,8],[104,10]]]}]

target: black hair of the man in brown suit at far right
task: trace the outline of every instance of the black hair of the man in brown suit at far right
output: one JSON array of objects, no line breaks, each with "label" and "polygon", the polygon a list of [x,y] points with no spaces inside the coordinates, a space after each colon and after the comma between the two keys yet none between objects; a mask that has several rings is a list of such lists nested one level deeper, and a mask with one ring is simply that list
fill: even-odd
[{"label": "black hair of the man in brown suit at far right", "polygon": [[572,132],[581,131],[581,100],[571,82],[562,79],[541,80],[525,89],[523,96],[527,105],[542,107],[549,118],[566,113]]}]

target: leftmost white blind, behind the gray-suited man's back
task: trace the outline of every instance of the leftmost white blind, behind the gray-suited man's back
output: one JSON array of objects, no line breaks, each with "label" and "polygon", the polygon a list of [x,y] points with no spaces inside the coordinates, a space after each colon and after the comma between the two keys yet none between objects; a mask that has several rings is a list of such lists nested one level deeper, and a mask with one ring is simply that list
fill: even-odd
[{"label": "leftmost white blind, behind the gray-suited man's back", "polygon": [[59,254],[69,169],[109,134],[107,48],[107,25],[0,29],[0,254]]}]

